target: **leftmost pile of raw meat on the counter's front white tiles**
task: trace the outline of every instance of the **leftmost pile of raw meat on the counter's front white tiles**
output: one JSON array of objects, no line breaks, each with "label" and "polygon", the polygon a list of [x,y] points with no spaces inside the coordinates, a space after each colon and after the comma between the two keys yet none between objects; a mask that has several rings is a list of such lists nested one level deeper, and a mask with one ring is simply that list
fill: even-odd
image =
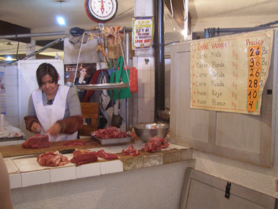
[{"label": "leftmost pile of raw meat on the counter's front white tiles", "polygon": [[37,162],[41,166],[56,167],[67,164],[69,160],[58,151],[50,151],[37,156]]}]

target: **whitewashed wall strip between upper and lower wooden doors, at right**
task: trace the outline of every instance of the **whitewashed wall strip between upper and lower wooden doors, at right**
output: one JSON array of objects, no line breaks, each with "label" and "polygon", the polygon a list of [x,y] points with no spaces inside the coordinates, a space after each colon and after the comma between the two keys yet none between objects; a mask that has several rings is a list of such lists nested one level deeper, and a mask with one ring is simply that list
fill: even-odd
[{"label": "whitewashed wall strip between upper and lower wooden doors, at right", "polygon": [[[276,69],[278,71],[278,69]],[[278,85],[273,90],[278,92]],[[278,97],[276,98],[278,104]],[[265,168],[238,160],[221,157],[194,150],[193,155],[196,158],[195,169],[212,176],[225,179],[250,189],[268,194],[278,198],[278,192],[275,191],[275,180],[278,179],[278,108],[275,113],[275,142],[274,142],[274,160],[272,168]],[[233,189],[233,186],[231,187]]]}]

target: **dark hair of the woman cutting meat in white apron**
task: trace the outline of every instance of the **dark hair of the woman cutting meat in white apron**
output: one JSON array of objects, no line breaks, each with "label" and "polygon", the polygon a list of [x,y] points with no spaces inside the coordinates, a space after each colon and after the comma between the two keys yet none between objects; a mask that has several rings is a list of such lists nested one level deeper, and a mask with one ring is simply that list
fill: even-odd
[{"label": "dark hair of the woman cutting meat in white apron", "polygon": [[38,66],[36,71],[37,83],[39,87],[41,87],[42,85],[41,78],[47,74],[52,77],[53,81],[56,84],[58,83],[58,72],[56,68],[52,64],[42,63]]}]

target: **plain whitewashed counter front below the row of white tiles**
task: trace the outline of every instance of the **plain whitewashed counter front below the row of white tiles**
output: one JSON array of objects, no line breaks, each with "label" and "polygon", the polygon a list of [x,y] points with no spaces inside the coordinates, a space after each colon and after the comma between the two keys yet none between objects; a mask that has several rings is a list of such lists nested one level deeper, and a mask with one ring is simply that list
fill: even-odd
[{"label": "plain whitewashed counter front below the row of white tiles", "polygon": [[15,209],[177,209],[184,174],[192,162],[12,189],[13,204]]}]

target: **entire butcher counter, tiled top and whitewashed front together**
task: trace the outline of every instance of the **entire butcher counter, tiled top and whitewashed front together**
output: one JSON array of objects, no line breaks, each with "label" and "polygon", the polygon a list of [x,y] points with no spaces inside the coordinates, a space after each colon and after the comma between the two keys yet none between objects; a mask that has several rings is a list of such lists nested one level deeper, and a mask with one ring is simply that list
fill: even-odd
[{"label": "entire butcher counter, tiled top and whitewashed front together", "polygon": [[[138,150],[144,144],[132,142]],[[90,148],[117,153],[119,159],[80,166],[47,168],[36,157],[4,157],[14,208],[178,208],[186,169],[195,163],[192,149],[170,143],[154,153],[121,156],[128,146]]]}]

